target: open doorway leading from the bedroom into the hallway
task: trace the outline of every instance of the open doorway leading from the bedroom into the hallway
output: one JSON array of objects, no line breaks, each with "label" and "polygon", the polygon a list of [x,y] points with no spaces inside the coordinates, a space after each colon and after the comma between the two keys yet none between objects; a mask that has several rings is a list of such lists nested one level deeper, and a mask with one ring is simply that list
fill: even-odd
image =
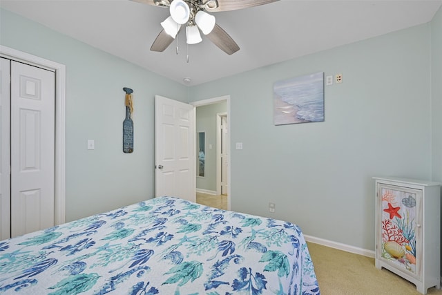
[{"label": "open doorway leading from the bedroom into the hallway", "polygon": [[230,209],[229,99],[223,96],[195,106],[196,201]]}]

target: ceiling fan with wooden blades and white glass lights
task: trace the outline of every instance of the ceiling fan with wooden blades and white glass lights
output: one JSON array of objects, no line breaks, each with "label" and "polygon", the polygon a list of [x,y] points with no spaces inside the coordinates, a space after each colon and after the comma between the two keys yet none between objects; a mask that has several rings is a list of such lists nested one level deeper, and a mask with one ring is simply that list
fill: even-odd
[{"label": "ceiling fan with wooden blades and white glass lights", "polygon": [[161,26],[163,30],[151,46],[152,51],[164,51],[175,39],[182,25],[186,26],[186,43],[198,44],[202,41],[201,32],[228,55],[236,53],[240,47],[215,23],[215,17],[207,12],[238,10],[276,2],[279,0],[133,0],[153,6],[169,8],[171,16]]}]

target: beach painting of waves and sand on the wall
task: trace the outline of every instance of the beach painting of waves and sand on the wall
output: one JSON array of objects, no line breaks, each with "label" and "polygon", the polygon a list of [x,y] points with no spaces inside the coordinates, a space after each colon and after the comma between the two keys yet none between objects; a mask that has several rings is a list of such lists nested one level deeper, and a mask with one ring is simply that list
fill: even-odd
[{"label": "beach painting of waves and sand on the wall", "polygon": [[324,121],[324,72],[273,84],[275,125]]}]

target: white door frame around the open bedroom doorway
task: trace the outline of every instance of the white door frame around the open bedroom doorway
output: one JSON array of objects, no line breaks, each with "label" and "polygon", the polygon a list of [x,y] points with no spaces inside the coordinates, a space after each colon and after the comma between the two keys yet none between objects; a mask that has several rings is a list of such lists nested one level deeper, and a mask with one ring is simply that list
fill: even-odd
[{"label": "white door frame around the open bedroom doorway", "polygon": [[[198,100],[195,102],[190,102],[189,104],[191,104],[193,106],[193,117],[195,118],[195,120],[193,120],[193,134],[196,134],[196,108],[198,106],[206,106],[208,104],[217,104],[218,102],[222,102],[222,101],[226,101],[227,102],[227,126],[231,126],[230,123],[230,95],[223,95],[220,97],[213,97],[213,98],[209,98],[209,99],[203,99],[203,100]],[[229,129],[231,129],[229,127]],[[227,137],[229,138],[229,146],[227,146],[227,153],[230,155],[230,146],[231,146],[231,138],[230,138],[231,132],[227,133]],[[196,136],[193,137],[193,146],[196,146]],[[217,152],[218,153],[218,152]],[[196,157],[196,152],[195,152],[195,157]],[[193,164],[195,165],[195,168],[193,169],[193,171],[196,171],[196,158],[193,159]],[[227,210],[231,209],[231,156],[229,156],[229,159],[227,160],[227,183],[229,184],[229,186],[227,187]],[[218,167],[217,167],[218,169]],[[196,175],[195,175],[195,180],[196,180]],[[218,180],[217,180],[218,181]],[[196,187],[196,182],[195,182],[195,187]],[[218,188],[217,188],[218,191]]]}]

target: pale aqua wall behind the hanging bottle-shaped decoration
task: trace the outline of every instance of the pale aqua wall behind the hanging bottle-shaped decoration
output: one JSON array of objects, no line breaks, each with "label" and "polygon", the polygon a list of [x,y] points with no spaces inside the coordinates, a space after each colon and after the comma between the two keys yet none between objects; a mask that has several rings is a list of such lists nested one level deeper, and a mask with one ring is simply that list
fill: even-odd
[{"label": "pale aqua wall behind the hanging bottle-shaped decoration", "polygon": [[[66,65],[66,219],[152,198],[155,94],[186,87],[6,10],[1,45]],[[134,149],[122,152],[123,87],[133,88]],[[88,151],[88,139],[95,150]]]}]

